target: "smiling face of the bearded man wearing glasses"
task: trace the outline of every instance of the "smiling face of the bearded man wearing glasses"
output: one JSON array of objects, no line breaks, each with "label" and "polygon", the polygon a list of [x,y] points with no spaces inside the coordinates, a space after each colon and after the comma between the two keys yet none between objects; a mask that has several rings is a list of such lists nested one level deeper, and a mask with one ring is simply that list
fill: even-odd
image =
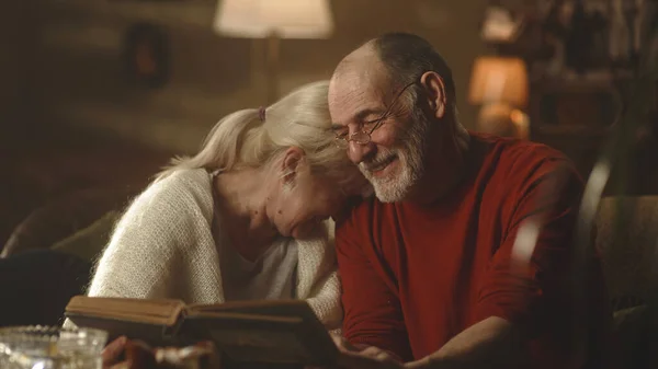
[{"label": "smiling face of the bearded man wearing glasses", "polygon": [[378,125],[370,142],[352,140],[347,150],[383,203],[405,199],[424,171],[429,122],[420,109],[410,106],[409,89],[395,99],[400,89],[390,88],[383,66],[372,62],[350,65],[333,76],[329,87],[336,134],[350,137]]}]

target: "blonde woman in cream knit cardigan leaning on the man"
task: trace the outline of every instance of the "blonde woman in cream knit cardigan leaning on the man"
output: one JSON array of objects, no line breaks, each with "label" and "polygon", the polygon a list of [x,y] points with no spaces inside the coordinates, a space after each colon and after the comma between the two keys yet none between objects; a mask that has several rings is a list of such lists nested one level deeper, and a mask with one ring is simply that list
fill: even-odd
[{"label": "blonde woman in cream knit cardigan leaning on the man", "polygon": [[327,82],[232,113],[129,206],[88,295],[188,303],[306,299],[340,326],[327,220],[366,182],[329,131]]}]

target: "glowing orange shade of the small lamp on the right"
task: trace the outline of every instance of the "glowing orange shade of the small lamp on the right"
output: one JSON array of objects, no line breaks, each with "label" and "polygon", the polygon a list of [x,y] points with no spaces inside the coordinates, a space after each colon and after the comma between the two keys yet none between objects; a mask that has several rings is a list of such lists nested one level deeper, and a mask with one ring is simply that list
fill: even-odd
[{"label": "glowing orange shade of the small lamp on the right", "polygon": [[475,105],[507,103],[523,107],[527,103],[527,71],[519,58],[479,57],[475,60],[468,102]]}]

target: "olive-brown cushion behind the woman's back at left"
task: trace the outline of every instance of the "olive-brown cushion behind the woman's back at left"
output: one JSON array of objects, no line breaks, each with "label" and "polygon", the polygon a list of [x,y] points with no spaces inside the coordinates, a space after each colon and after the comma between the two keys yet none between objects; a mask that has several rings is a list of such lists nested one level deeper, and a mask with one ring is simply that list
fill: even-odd
[{"label": "olive-brown cushion behind the woman's back at left", "polygon": [[118,211],[110,211],[87,228],[55,243],[53,250],[93,262],[107,244],[110,234],[120,217]]}]

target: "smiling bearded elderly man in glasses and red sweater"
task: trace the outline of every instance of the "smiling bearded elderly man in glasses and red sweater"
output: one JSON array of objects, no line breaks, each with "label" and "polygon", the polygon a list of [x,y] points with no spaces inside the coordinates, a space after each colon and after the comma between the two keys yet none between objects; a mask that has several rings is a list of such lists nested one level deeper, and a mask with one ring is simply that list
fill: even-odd
[{"label": "smiling bearded elderly man in glasses and red sweater", "polygon": [[574,265],[583,185],[563,154],[467,131],[449,66],[410,34],[347,56],[329,106],[376,194],[336,232],[349,355],[413,368],[609,362],[599,261]]}]

